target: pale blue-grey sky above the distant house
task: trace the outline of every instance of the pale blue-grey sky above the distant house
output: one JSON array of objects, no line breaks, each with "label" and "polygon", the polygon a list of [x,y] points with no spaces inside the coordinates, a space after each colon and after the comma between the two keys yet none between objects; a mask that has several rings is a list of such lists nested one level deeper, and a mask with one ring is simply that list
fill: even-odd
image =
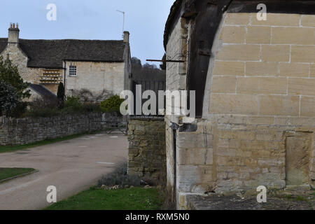
[{"label": "pale blue-grey sky above the distant house", "polygon": [[[47,19],[55,3],[57,20]],[[162,59],[163,32],[174,0],[1,0],[0,37],[8,36],[10,22],[20,25],[20,38],[119,40],[130,31],[132,57]]]}]

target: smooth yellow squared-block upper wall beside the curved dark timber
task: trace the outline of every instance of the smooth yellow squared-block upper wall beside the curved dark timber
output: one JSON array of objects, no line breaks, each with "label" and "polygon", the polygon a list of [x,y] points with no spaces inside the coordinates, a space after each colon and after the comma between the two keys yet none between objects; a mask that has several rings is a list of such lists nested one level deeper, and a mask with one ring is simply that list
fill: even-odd
[{"label": "smooth yellow squared-block upper wall beside the curved dark timber", "polygon": [[228,13],[209,113],[314,117],[315,16]]}]

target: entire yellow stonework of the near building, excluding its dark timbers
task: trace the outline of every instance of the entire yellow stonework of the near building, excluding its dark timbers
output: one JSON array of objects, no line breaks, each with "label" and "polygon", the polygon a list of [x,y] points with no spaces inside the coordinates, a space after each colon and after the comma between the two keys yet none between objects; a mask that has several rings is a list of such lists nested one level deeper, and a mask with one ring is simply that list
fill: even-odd
[{"label": "entire yellow stonework of the near building, excluding its dark timbers", "polygon": [[[179,209],[191,194],[315,184],[314,31],[315,15],[267,14],[261,22],[255,13],[225,15],[197,131],[176,130],[174,149],[174,119],[166,118],[167,181],[176,184]],[[167,66],[168,80],[178,73]]]}]

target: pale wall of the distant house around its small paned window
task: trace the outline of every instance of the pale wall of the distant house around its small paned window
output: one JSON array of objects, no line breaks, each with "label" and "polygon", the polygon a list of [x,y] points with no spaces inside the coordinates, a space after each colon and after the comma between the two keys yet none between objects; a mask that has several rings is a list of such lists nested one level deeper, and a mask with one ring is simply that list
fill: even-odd
[{"label": "pale wall of the distant house around its small paned window", "polygon": [[[76,76],[69,76],[69,66],[76,66]],[[103,90],[120,94],[124,89],[125,63],[105,62],[69,62],[66,67],[66,94],[71,90],[90,90],[94,94],[100,94]]]}]

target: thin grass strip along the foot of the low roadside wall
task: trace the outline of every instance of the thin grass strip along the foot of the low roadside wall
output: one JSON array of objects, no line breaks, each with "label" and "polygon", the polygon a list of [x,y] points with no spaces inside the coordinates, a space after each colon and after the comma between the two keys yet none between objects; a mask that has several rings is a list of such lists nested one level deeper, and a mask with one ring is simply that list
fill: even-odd
[{"label": "thin grass strip along the foot of the low roadside wall", "polygon": [[56,143],[56,142],[59,142],[59,141],[66,141],[66,140],[70,140],[70,139],[76,139],[78,137],[82,137],[85,134],[87,134],[87,133],[73,134],[73,135],[70,135],[68,137],[62,137],[62,138],[58,138],[58,139],[46,139],[46,140],[43,140],[43,141],[38,141],[38,142],[35,142],[35,143],[25,144],[25,145],[20,145],[20,146],[0,146],[0,153],[9,153],[9,152],[13,152],[13,151],[24,150],[24,149],[27,149],[27,148],[34,148],[34,147],[37,147],[37,146],[44,146],[44,145]]}]

